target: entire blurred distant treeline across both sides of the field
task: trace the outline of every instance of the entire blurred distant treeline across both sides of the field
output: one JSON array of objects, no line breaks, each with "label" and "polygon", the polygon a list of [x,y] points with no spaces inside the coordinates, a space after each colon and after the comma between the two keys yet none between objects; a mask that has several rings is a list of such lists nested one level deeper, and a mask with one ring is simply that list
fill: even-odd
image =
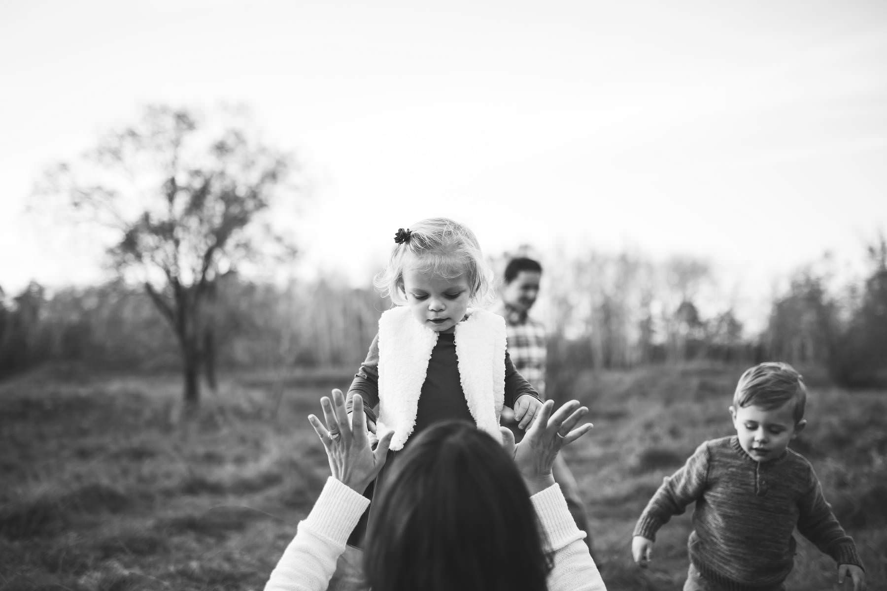
[{"label": "entire blurred distant treeline across both sides of the field", "polygon": [[[581,369],[631,368],[697,359],[820,364],[842,385],[887,370],[887,245],[868,249],[859,284],[831,286],[814,266],[774,297],[765,330],[747,334],[726,307],[704,316],[703,261],[655,264],[628,253],[561,257],[546,266],[550,389],[567,390]],[[494,261],[495,262],[495,261]],[[229,274],[218,280],[205,323],[206,349],[224,369],[354,366],[389,301],[372,287],[331,278],[286,286]],[[115,281],[49,293],[38,284],[0,289],[0,376],[42,362],[105,369],[177,369],[169,325],[137,286]]]}]

